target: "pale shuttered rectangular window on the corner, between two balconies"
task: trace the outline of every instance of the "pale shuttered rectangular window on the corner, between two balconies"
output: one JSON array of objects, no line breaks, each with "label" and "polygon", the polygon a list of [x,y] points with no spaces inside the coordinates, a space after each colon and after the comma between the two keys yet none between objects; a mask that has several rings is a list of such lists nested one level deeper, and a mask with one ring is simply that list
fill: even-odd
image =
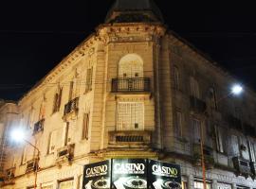
[{"label": "pale shuttered rectangular window on the corner, between two balconies", "polygon": [[119,102],[118,129],[119,130],[144,129],[144,103]]}]

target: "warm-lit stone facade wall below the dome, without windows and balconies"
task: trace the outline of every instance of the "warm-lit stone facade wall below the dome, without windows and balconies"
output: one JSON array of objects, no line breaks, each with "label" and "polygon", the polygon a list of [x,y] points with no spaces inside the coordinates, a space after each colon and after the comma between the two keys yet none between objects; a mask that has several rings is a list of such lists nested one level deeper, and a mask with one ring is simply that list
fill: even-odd
[{"label": "warm-lit stone facade wall below the dome, without windows and balconies", "polygon": [[[119,61],[127,55],[136,55],[143,61],[143,77],[150,78],[150,91],[115,92],[112,79],[119,78]],[[89,69],[92,71],[92,86],[88,89]],[[178,89],[174,82],[174,69],[178,70]],[[205,112],[193,112],[191,108],[190,78],[198,81],[198,99],[206,102]],[[218,110],[212,110],[209,89],[214,85],[216,98],[229,94],[234,81],[222,69],[204,58],[192,46],[182,42],[166,28],[156,24],[117,24],[99,26],[97,33],[80,44],[67,58],[57,65],[37,86],[28,92],[18,105],[12,106],[12,116],[1,115],[0,123],[11,129],[19,126],[27,131],[27,140],[40,149],[39,186],[52,185],[56,188],[64,180],[73,180],[73,188],[81,188],[82,165],[108,158],[153,158],[182,166],[183,181],[194,188],[200,180],[200,166],[193,160],[194,130],[192,119],[196,118],[204,127],[205,145],[210,147],[215,166],[207,171],[213,189],[220,183],[244,185],[255,188],[256,183],[245,177],[236,177],[232,157],[241,155],[249,159],[247,150],[238,151],[232,134],[239,138],[241,146],[247,146],[247,139],[256,143],[255,136],[246,137],[243,130],[233,129],[226,117],[235,115],[239,107],[244,123],[254,126],[255,94],[246,88],[238,98],[227,97],[218,103]],[[71,86],[73,82],[73,87]],[[72,90],[71,90],[72,88]],[[62,91],[62,93],[60,93]],[[61,106],[53,112],[56,94],[62,94]],[[64,113],[68,102],[79,98],[78,109]],[[144,104],[143,130],[119,130],[119,102],[142,102]],[[246,105],[246,106],[245,106]],[[1,108],[9,112],[8,106]],[[176,132],[176,112],[181,112],[181,135]],[[88,114],[88,138],[82,139],[84,114]],[[221,115],[221,117],[216,116]],[[5,119],[5,120],[4,120]],[[35,123],[45,120],[44,130],[33,134]],[[68,125],[68,126],[67,126]],[[222,153],[217,152],[214,130],[223,128]],[[68,128],[68,132],[65,130]],[[255,128],[255,127],[254,127]],[[245,124],[244,128],[245,129]],[[229,131],[229,134],[228,134]],[[244,130],[245,131],[245,130]],[[54,137],[51,137],[54,133]],[[116,136],[143,136],[148,141],[115,141]],[[51,140],[52,138],[52,140]],[[49,143],[51,141],[51,152]],[[72,160],[58,157],[61,149],[74,144]],[[7,146],[8,160],[5,170],[15,165],[15,184],[5,188],[29,188],[34,184],[34,173],[26,173],[27,161],[36,157],[36,150],[29,145]],[[10,180],[10,179],[9,179]],[[184,182],[184,183],[185,183]]]}]

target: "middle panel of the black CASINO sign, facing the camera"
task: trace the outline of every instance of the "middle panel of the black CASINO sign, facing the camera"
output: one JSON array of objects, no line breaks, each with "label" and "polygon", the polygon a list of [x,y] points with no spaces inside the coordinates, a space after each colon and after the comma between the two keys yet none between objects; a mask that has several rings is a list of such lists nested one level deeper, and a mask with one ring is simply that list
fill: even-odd
[{"label": "middle panel of the black CASINO sign, facing the camera", "polygon": [[147,189],[147,160],[114,159],[112,161],[113,189]]}]

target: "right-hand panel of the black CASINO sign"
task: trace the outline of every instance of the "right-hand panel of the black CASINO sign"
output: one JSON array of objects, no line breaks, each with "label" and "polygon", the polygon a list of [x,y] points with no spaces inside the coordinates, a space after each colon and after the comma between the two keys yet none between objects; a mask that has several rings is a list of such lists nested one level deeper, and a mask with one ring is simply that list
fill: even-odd
[{"label": "right-hand panel of the black CASINO sign", "polygon": [[148,173],[151,189],[181,189],[181,172],[177,164],[149,160]]}]

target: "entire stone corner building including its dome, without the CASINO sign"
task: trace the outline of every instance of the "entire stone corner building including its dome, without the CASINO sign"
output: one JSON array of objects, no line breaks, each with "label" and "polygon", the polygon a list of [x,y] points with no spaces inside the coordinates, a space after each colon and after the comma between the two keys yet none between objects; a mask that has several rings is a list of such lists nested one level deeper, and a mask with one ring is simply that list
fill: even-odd
[{"label": "entire stone corner building including its dome, without the CASINO sign", "polygon": [[[110,158],[178,163],[183,188],[202,188],[201,126],[209,188],[256,188],[256,94],[219,102],[236,79],[163,22],[152,0],[117,0],[96,33],[0,108],[6,136],[21,127],[40,149],[38,188],[82,188],[82,165]],[[33,188],[37,151],[4,149],[2,187]]]}]

